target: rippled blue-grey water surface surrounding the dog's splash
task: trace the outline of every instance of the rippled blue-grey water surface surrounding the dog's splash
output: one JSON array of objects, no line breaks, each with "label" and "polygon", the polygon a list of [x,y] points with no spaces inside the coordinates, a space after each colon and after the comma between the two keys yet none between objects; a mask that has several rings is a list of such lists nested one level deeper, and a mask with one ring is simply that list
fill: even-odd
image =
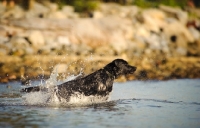
[{"label": "rippled blue-grey water surface surrounding the dog's splash", "polygon": [[108,102],[84,106],[27,105],[20,89],[0,84],[0,127],[200,127],[200,79],[115,83]]}]

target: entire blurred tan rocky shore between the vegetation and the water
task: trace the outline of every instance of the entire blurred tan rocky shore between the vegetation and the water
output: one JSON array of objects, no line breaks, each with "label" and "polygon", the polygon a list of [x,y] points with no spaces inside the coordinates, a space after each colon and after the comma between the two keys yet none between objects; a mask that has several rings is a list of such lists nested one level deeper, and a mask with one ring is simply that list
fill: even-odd
[{"label": "entire blurred tan rocky shore between the vegetation and the water", "polygon": [[0,3],[0,82],[44,79],[55,69],[59,78],[89,74],[115,58],[138,67],[118,81],[200,78],[200,13],[191,13],[102,3],[83,17],[71,6]]}]

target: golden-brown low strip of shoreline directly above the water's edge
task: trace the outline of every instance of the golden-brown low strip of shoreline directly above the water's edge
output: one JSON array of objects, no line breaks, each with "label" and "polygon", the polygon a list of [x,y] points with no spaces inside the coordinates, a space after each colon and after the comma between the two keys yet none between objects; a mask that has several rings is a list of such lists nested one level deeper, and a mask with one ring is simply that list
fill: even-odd
[{"label": "golden-brown low strip of shoreline directly above the water's edge", "polygon": [[58,79],[83,72],[88,75],[114,60],[123,58],[137,67],[134,74],[122,76],[116,81],[168,80],[180,78],[200,78],[199,57],[176,57],[158,60],[152,58],[132,58],[126,56],[69,56],[69,55],[27,55],[24,57],[2,56],[0,60],[0,83],[49,78],[52,71]]}]

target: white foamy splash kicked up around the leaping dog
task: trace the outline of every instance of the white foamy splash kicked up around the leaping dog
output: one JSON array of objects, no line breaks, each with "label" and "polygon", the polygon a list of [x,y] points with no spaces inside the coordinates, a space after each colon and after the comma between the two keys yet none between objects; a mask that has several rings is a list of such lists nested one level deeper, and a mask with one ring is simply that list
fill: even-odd
[{"label": "white foamy splash kicked up around the leaping dog", "polygon": [[67,81],[71,81],[76,79],[77,77],[82,76],[82,71],[78,75],[71,75],[62,81],[58,81],[58,73],[57,70],[51,73],[50,78],[47,79],[44,83],[41,81],[40,85],[45,88],[45,91],[39,92],[31,92],[26,93],[22,96],[24,99],[24,104],[26,105],[50,105],[50,106],[58,106],[58,105],[87,105],[93,103],[104,102],[108,99],[107,97],[100,96],[85,96],[81,93],[74,93],[69,102],[66,102],[65,99],[60,99],[56,95],[57,86]]}]

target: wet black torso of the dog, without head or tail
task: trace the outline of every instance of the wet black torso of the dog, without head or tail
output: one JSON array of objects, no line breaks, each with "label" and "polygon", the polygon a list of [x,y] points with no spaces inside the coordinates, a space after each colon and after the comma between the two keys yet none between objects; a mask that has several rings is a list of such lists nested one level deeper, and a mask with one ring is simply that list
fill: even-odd
[{"label": "wet black torso of the dog, without head or tail", "polygon": [[112,91],[114,77],[104,69],[100,69],[86,77],[58,85],[58,95],[68,99],[74,93],[85,96],[107,96]]}]

